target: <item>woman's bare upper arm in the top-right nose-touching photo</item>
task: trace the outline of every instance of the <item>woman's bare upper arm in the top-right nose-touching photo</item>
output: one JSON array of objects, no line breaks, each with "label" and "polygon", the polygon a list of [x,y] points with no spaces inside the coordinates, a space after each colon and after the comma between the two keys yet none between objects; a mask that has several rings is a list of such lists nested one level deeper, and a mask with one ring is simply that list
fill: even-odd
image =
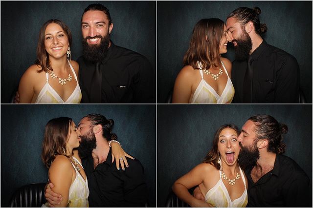
[{"label": "woman's bare upper arm in the top-right nose-touching photo", "polygon": [[172,103],[187,104],[191,96],[192,75],[194,69],[191,66],[184,66],[177,75]]}]

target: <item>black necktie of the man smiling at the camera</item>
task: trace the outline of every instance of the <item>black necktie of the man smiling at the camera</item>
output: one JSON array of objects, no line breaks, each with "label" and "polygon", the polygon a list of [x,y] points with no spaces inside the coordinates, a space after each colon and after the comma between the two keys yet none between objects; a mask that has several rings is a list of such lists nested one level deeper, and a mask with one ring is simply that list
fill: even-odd
[{"label": "black necktie of the man smiling at the camera", "polygon": [[102,73],[100,69],[100,63],[96,63],[96,69],[93,72],[91,91],[90,91],[90,103],[101,103],[101,85],[102,85]]}]

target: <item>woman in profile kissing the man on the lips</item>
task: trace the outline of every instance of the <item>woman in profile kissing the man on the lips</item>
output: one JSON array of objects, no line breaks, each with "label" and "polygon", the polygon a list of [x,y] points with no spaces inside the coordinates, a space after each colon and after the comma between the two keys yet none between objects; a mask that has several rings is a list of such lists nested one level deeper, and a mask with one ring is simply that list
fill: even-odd
[{"label": "woman in profile kissing the man on the lips", "polygon": [[[45,126],[42,160],[49,168],[52,191],[63,197],[60,207],[88,207],[88,180],[78,151],[73,150],[79,146],[80,135],[72,119],[67,117],[52,119]],[[112,152],[116,152],[114,148],[121,149],[112,143]]]}]

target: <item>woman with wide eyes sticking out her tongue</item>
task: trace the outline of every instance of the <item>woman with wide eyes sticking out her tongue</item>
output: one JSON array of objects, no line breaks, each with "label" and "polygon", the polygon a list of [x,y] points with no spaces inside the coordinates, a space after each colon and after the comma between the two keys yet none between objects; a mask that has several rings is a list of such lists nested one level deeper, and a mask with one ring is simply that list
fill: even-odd
[{"label": "woman with wide eyes sticking out her tongue", "polygon": [[[203,163],[179,178],[173,191],[191,207],[246,207],[247,179],[237,160],[240,151],[235,125],[222,125],[215,133],[213,147]],[[188,189],[200,187],[205,201]]]}]

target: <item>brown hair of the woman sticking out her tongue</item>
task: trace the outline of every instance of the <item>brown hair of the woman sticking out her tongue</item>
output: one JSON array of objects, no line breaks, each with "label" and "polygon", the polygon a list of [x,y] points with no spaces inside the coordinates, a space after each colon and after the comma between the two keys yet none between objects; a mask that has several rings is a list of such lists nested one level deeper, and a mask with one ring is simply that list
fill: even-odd
[{"label": "brown hair of the woman sticking out her tongue", "polygon": [[218,146],[219,146],[219,136],[224,128],[231,128],[236,131],[237,136],[239,135],[239,129],[236,125],[233,124],[225,124],[221,125],[217,131],[214,134],[214,139],[213,139],[213,146],[212,149],[206,154],[204,160],[202,161],[203,163],[209,163],[212,166],[216,167],[216,169],[221,169],[221,165],[218,164],[218,160],[220,158]]}]

